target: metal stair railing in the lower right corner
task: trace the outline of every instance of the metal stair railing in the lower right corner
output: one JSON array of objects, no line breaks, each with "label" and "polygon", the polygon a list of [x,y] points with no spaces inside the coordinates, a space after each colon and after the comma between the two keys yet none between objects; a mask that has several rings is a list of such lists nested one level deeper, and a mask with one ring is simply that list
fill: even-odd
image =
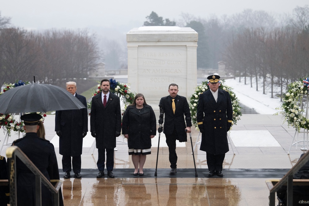
[{"label": "metal stair railing in the lower right corner", "polygon": [[[300,158],[296,164],[284,175],[282,179],[280,179],[275,185],[273,185],[274,181],[266,181],[266,184],[269,188],[269,206],[275,206],[275,193],[282,186],[287,185],[287,206],[293,205],[293,182],[297,185],[309,185],[309,181],[293,181],[293,175],[307,162],[309,161],[309,152],[305,153],[302,158]],[[299,183],[297,183],[299,182]],[[296,185],[294,184],[294,185]]]}]

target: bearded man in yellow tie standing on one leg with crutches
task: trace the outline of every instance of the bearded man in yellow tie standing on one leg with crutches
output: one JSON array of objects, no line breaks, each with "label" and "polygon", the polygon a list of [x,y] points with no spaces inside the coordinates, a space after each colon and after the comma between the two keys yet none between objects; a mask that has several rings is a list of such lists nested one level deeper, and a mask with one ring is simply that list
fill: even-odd
[{"label": "bearded man in yellow tie standing on one leg with crutches", "polygon": [[178,91],[178,85],[172,83],[168,86],[168,93],[170,95],[160,99],[160,107],[165,115],[163,133],[165,134],[169,151],[170,174],[177,173],[176,140],[186,142],[187,133],[191,132],[192,126],[187,98],[177,95]]}]

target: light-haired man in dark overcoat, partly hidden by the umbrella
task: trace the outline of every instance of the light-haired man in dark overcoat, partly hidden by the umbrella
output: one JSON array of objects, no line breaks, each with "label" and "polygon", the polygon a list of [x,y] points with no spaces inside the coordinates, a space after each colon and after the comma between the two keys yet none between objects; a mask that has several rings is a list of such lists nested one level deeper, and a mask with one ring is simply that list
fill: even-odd
[{"label": "light-haired man in dark overcoat, partly hidden by the umbrella", "polygon": [[87,101],[84,96],[76,93],[76,82],[66,82],[66,90],[86,108],[56,111],[55,131],[59,136],[59,153],[62,155],[62,170],[65,172],[63,178],[70,178],[72,167],[74,177],[81,178],[83,137],[88,132]]}]

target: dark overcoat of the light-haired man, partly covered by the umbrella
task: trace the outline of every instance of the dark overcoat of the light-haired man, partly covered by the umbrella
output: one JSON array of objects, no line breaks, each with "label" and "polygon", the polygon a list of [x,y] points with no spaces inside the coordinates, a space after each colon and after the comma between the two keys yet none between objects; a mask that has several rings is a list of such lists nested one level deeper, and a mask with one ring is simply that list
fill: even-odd
[{"label": "dark overcoat of the light-haired man, partly covered by the umbrella", "polygon": [[75,97],[85,105],[83,109],[56,111],[55,131],[61,131],[59,153],[65,156],[79,156],[83,149],[83,132],[88,132],[87,101],[82,95]]}]

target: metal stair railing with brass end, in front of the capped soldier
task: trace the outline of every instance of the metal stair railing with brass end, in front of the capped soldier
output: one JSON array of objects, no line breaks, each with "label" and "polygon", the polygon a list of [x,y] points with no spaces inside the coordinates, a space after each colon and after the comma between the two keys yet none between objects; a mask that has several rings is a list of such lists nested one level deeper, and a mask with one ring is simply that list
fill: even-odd
[{"label": "metal stair railing with brass end, in front of the capped soldier", "polygon": [[[16,157],[18,157],[35,175],[35,192],[36,192],[36,206],[41,205],[41,183],[43,183],[49,191],[53,194],[54,205],[59,205],[59,190],[61,188],[62,180],[48,180],[40,170],[31,162],[31,160],[23,153],[17,146],[11,146],[6,149],[6,157],[8,158],[9,168],[9,185],[10,185],[10,205],[17,205],[16,194]],[[55,186],[52,183],[55,183]],[[62,197],[61,197],[62,198]]]}]

